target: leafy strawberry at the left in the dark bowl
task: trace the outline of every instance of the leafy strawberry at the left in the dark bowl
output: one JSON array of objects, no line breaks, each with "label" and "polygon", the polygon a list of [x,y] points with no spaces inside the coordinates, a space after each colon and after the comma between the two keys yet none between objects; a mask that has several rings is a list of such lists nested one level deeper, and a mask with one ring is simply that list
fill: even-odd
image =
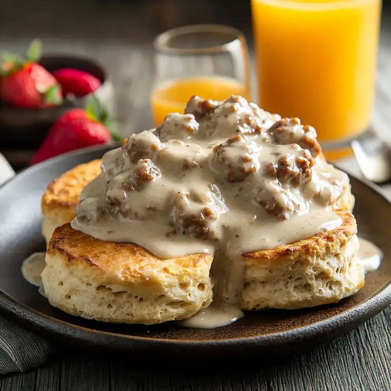
[{"label": "leafy strawberry at the left in the dark bowl", "polygon": [[61,87],[56,78],[37,64],[41,57],[41,42],[34,40],[26,58],[3,53],[0,68],[0,99],[18,108],[40,109],[60,105]]}]

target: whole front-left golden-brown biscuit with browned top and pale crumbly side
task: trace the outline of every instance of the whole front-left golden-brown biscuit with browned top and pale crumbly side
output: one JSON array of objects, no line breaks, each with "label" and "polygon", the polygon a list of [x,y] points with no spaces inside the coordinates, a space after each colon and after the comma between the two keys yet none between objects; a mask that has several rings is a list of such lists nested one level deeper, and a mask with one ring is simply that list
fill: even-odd
[{"label": "whole front-left golden-brown biscuit with browned top and pale crumbly side", "polygon": [[212,301],[213,257],[162,260],[130,243],[113,243],[55,229],[42,273],[55,307],[105,322],[153,324],[185,319]]}]

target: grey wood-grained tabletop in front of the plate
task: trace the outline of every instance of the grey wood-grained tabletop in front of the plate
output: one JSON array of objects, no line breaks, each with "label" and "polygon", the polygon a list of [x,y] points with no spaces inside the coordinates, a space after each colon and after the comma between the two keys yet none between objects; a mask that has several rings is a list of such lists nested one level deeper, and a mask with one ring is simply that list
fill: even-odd
[{"label": "grey wood-grained tabletop in front of the plate", "polygon": [[[391,307],[357,330],[310,352],[249,370],[137,367],[137,358],[74,352],[35,371],[0,379],[1,391],[330,390],[391,386]],[[184,357],[184,360],[186,357]],[[217,363],[218,364],[218,363]],[[197,373],[195,375],[195,373]],[[35,386],[35,388],[34,388]]]}]

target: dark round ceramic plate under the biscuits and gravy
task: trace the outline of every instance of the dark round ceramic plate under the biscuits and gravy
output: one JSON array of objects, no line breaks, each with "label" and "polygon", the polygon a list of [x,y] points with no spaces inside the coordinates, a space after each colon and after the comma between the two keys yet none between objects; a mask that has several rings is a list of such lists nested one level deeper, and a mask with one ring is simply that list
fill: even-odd
[{"label": "dark round ceramic plate under the biscuits and gravy", "polygon": [[[43,251],[41,196],[66,170],[102,156],[103,148],[73,152],[32,167],[0,189],[0,309],[19,323],[68,345],[125,349],[154,357],[271,358],[310,348],[359,326],[391,303],[391,205],[374,188],[352,177],[360,235],[381,248],[380,268],[356,295],[334,305],[247,313],[231,326],[212,330],[174,323],[132,326],[87,321],[51,307],[20,273],[23,259]],[[162,356],[164,354],[164,356]]]}]

